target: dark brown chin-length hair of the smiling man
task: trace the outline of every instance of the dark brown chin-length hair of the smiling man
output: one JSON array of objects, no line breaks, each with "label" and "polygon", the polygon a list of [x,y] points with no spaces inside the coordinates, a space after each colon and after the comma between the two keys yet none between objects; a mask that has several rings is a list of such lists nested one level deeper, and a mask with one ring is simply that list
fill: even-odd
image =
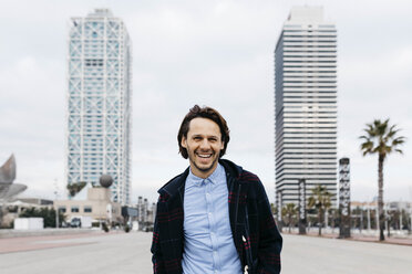
[{"label": "dark brown chin-length hair of the smiling man", "polygon": [[187,150],[182,146],[182,138],[187,138],[187,133],[189,130],[190,120],[194,118],[206,118],[215,122],[219,128],[220,128],[220,135],[222,135],[222,141],[224,143],[224,148],[220,150],[219,158],[225,155],[227,144],[230,140],[229,136],[229,128],[227,127],[226,120],[222,115],[212,107],[199,107],[198,105],[195,105],[189,109],[189,112],[186,114],[185,118],[182,122],[181,128],[178,129],[177,134],[177,143],[178,143],[178,149],[183,158],[187,159]]}]

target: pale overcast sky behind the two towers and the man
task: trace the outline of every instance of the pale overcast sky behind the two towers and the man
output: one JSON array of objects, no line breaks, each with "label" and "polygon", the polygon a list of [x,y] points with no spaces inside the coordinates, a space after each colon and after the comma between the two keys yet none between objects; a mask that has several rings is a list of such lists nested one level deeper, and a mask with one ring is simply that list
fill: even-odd
[{"label": "pale overcast sky behind the two towers and the man", "polygon": [[[389,4],[390,3],[390,4]],[[194,104],[228,122],[228,159],[275,192],[274,50],[290,8],[323,6],[338,29],[338,157],[351,159],[353,200],[378,193],[378,157],[362,128],[390,118],[408,138],[384,166],[385,200],[412,200],[412,1],[0,1],[0,165],[13,152],[24,196],[65,188],[68,30],[71,17],[110,8],[133,42],[133,201],[188,162],[178,126]]]}]

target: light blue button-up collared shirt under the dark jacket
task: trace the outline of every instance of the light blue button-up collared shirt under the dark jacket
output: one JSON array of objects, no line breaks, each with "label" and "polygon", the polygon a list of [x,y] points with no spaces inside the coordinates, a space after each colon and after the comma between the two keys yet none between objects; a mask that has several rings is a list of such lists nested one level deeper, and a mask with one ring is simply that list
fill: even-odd
[{"label": "light blue button-up collared shirt under the dark jacket", "polygon": [[206,179],[192,170],[184,198],[184,274],[238,274],[241,264],[231,235],[225,168]]}]

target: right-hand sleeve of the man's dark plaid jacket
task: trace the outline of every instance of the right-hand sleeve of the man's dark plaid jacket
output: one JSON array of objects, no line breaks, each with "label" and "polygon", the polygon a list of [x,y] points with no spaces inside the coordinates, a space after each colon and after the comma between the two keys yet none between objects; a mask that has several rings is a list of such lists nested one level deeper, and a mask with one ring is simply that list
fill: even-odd
[{"label": "right-hand sleeve of the man's dark plaid jacket", "polygon": [[257,273],[280,273],[280,251],[282,238],[275,223],[274,215],[264,186],[259,181],[259,243]]}]

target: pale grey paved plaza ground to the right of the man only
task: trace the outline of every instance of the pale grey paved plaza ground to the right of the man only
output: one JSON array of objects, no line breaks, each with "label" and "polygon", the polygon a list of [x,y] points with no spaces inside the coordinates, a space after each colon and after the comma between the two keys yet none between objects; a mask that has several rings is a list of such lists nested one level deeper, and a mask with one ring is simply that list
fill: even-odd
[{"label": "pale grey paved plaza ground to the right of the man only", "polygon": [[284,234],[282,273],[405,274],[412,246]]}]

